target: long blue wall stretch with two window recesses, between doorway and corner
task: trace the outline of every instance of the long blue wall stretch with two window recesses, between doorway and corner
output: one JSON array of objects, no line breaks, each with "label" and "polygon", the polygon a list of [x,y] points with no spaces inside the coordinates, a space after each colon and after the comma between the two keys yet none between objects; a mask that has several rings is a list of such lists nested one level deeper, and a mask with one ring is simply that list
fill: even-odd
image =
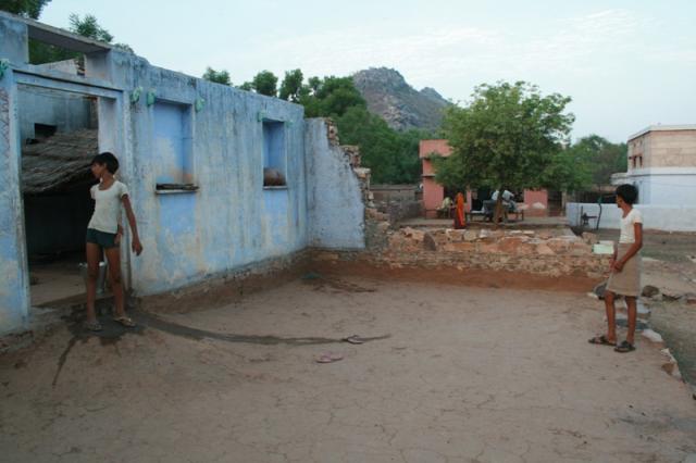
[{"label": "long blue wall stretch with two window recesses, between doorway and corner", "polygon": [[[140,258],[130,258],[134,292],[179,288],[303,249],[308,243],[303,109],[117,54],[115,73],[125,76],[126,87],[156,91],[158,101],[186,108],[190,120],[190,153],[183,162],[182,155],[173,155],[178,148],[171,142],[181,132],[173,129],[178,116],[172,111],[162,115],[158,103],[139,102],[129,109],[133,172],[124,173],[124,180],[130,187],[145,247]],[[194,109],[197,99],[206,101],[200,112]],[[263,117],[282,122],[276,128],[285,140],[278,141],[277,134],[273,139],[284,147],[287,160],[284,189],[263,188]],[[156,184],[164,179],[162,168],[167,180],[175,180],[181,165],[185,165],[184,182],[198,185],[198,191],[157,195]]]}]

